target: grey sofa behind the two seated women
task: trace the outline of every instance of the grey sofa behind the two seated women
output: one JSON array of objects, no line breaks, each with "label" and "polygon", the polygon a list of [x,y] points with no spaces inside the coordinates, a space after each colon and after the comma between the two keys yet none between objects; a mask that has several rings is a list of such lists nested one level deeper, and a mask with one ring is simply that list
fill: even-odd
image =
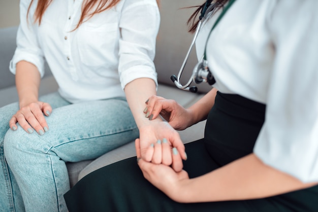
[{"label": "grey sofa behind the two seated women", "polygon": [[[204,93],[211,89],[208,85],[199,85],[198,93],[190,93],[180,90],[170,80],[172,74],[177,74],[192,40],[192,35],[187,32],[186,20],[193,9],[180,9],[193,6],[190,0],[170,1],[161,3],[161,27],[157,37],[155,66],[158,73],[157,94],[169,99],[177,100],[184,107],[189,107]],[[9,71],[9,61],[14,53],[17,26],[0,29],[0,107],[17,101],[14,75]],[[195,51],[192,52],[185,74],[182,75],[183,83],[187,82],[196,64]],[[56,91],[58,88],[50,70],[46,67],[46,74],[41,81],[40,95]],[[200,122],[186,130],[180,131],[184,143],[203,137],[205,122]],[[73,186],[86,174],[105,165],[114,163],[124,158],[136,156],[134,142],[119,147],[105,155],[89,161],[67,163],[70,184]]]}]

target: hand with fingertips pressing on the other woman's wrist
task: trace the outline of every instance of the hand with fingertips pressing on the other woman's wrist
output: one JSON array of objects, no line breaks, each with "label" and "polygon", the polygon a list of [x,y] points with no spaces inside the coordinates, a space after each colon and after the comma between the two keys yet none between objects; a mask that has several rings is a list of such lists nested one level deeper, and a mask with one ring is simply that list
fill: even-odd
[{"label": "hand with fingertips pressing on the other woman's wrist", "polygon": [[189,110],[184,109],[178,102],[160,96],[151,96],[147,102],[144,113],[153,120],[161,115],[176,130],[184,130],[193,125],[193,116]]}]

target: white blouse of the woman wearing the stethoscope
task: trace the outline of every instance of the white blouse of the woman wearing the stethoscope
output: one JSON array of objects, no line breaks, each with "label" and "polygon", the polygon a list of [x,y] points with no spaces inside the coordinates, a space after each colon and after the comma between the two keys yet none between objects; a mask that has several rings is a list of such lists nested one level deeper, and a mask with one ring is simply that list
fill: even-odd
[{"label": "white blouse of the woman wearing the stethoscope", "polygon": [[[254,153],[303,182],[318,181],[317,9],[317,0],[237,0],[206,47],[215,88],[266,104]],[[198,58],[217,16],[203,25]]]}]

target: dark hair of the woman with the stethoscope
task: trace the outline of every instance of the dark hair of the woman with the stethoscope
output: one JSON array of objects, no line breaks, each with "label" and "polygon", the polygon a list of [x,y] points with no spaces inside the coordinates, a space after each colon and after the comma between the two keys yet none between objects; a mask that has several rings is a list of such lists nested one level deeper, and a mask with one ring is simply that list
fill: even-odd
[{"label": "dark hair of the woman with the stethoscope", "polygon": [[[212,4],[212,10],[219,10],[220,8],[224,7],[224,5],[228,2],[229,0],[213,0]],[[190,16],[190,18],[187,20],[186,24],[188,25],[188,32],[195,32],[197,25],[199,23],[199,20],[197,19],[198,14],[204,7],[205,3],[203,3],[201,6],[194,6],[198,7],[198,9]]]}]

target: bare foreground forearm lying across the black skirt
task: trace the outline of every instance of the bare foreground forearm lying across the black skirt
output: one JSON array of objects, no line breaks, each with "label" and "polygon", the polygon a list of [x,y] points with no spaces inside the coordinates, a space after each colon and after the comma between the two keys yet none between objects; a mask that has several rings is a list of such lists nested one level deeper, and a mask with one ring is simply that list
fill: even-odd
[{"label": "bare foreground forearm lying across the black skirt", "polygon": [[250,154],[198,178],[183,181],[176,200],[207,202],[265,198],[316,184],[302,183]]}]

